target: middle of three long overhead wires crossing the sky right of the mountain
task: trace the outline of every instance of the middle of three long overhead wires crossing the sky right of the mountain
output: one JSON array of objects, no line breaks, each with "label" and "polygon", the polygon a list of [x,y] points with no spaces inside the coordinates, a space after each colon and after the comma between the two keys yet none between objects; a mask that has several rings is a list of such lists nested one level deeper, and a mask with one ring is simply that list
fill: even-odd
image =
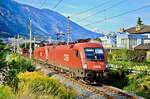
[{"label": "middle of three long overhead wires crossing the sky right of the mountain", "polygon": [[112,6],[106,8],[106,9],[97,11],[97,12],[95,12],[95,13],[93,13],[93,14],[87,16],[87,17],[84,17],[84,18],[82,18],[82,19],[80,19],[80,20],[78,20],[78,21],[87,20],[88,18],[91,18],[91,17],[93,17],[93,16],[96,15],[96,14],[100,14],[100,13],[102,13],[102,12],[105,12],[105,11],[111,9],[111,8],[114,8],[114,7],[118,6],[118,5],[120,5],[120,3],[124,2],[124,1],[125,1],[125,0],[121,0],[121,1],[117,2],[116,4],[113,4]]}]

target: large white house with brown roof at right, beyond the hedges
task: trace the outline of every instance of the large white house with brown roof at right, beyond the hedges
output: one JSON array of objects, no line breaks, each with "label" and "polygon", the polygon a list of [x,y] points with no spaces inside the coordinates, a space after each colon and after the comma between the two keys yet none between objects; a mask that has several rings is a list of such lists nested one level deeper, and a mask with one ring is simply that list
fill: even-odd
[{"label": "large white house with brown roof at right, beyond the hedges", "polygon": [[150,43],[150,26],[138,18],[137,25],[118,32],[116,45],[119,48],[134,49],[138,45]]}]

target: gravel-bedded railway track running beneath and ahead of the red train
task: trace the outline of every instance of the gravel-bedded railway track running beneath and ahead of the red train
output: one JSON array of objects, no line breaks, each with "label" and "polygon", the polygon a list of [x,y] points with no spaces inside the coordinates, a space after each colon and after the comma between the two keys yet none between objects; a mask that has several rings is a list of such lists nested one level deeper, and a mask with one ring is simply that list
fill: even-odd
[{"label": "gravel-bedded railway track running beneath and ahead of the red train", "polygon": [[[46,65],[46,64],[41,65],[46,67],[46,69],[56,72],[58,75],[72,81],[74,84],[78,84],[80,88],[84,88],[89,92],[91,92],[92,95],[88,97],[89,99],[141,99],[136,95],[131,95],[127,92],[124,92],[112,86],[108,85],[92,86],[84,84],[80,80],[76,80],[74,78],[69,77],[67,73],[54,70],[53,65]],[[84,99],[84,94],[80,94],[78,97],[76,97],[76,99]]]}]

